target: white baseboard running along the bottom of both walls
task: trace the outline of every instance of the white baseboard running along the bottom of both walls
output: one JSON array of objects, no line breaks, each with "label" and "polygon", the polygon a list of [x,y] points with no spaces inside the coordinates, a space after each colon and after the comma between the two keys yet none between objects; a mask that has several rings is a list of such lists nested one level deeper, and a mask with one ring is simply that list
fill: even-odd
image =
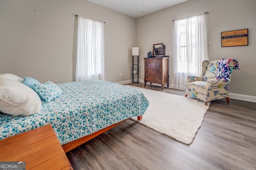
[{"label": "white baseboard running along the bottom of both walls", "polygon": [[[132,80],[126,80],[126,81],[120,81],[117,82],[118,84],[128,84],[131,83]],[[144,79],[139,79],[140,83],[144,83]],[[147,83],[150,84],[150,83]],[[160,84],[155,84],[152,83],[152,85],[157,85],[157,86],[161,86]],[[167,87],[167,85],[165,85],[164,87]],[[171,87],[169,87],[171,88]],[[251,101],[251,102],[255,102],[256,103],[256,96],[249,96],[249,95],[241,95],[241,94],[236,94],[236,93],[229,93],[229,98],[230,99],[238,99],[238,100],[243,100],[243,101]]]}]

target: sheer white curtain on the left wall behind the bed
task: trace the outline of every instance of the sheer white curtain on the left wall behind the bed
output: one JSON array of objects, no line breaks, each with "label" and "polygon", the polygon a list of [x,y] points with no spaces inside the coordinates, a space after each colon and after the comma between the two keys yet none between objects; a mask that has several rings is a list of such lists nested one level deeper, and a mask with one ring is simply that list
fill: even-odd
[{"label": "sheer white curtain on the left wall behind the bed", "polygon": [[78,16],[76,81],[106,80],[104,23]]}]

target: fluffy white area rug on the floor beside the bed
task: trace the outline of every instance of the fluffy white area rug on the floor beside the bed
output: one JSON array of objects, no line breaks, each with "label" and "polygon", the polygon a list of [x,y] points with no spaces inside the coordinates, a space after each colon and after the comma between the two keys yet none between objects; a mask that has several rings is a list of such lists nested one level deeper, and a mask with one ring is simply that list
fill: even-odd
[{"label": "fluffy white area rug on the floor beside the bed", "polygon": [[135,86],[129,87],[142,91],[149,101],[142,120],[138,121],[137,117],[134,117],[132,118],[134,121],[185,144],[192,143],[198,128],[202,125],[210,102],[205,106],[204,101],[198,99]]}]

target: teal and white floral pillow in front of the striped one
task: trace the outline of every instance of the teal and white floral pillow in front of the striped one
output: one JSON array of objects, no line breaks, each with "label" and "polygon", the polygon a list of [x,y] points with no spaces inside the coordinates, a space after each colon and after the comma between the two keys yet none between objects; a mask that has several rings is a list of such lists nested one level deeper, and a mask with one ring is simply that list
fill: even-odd
[{"label": "teal and white floral pillow in front of the striped one", "polygon": [[34,84],[34,89],[44,101],[52,101],[62,94],[60,87],[51,81],[44,84]]}]

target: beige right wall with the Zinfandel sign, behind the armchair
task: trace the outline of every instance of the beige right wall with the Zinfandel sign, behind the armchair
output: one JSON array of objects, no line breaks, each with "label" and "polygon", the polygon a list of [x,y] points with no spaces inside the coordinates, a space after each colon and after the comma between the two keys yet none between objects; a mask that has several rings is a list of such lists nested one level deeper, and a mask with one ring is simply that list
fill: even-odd
[{"label": "beige right wall with the Zinfandel sign, behind the armchair", "polygon": [[[256,96],[256,1],[255,0],[189,0],[137,19],[137,45],[140,58],[152,51],[152,44],[164,43],[166,54],[170,55],[169,74],[173,66],[172,20],[206,14],[208,21],[209,59],[233,58],[240,63],[240,70],[234,70],[230,92]],[[248,28],[249,45],[221,47],[221,32]],[[140,64],[140,75],[144,75],[144,63]],[[142,76],[140,77],[142,79]],[[170,83],[172,77],[169,79]]]}]

